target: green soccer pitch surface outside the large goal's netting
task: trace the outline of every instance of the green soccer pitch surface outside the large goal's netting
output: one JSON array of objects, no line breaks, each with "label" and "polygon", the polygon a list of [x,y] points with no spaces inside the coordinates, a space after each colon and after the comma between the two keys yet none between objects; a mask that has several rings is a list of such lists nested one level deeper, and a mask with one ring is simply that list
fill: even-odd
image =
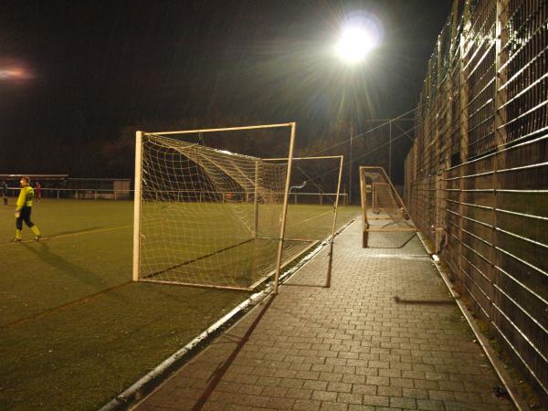
[{"label": "green soccer pitch surface outside the large goal's netting", "polygon": [[[14,204],[0,206],[1,409],[96,409],[249,296],[132,282],[132,202],[42,200],[46,239],[24,227],[10,243]],[[290,205],[288,232],[329,236],[330,209]],[[340,207],[337,227],[358,213]]]}]

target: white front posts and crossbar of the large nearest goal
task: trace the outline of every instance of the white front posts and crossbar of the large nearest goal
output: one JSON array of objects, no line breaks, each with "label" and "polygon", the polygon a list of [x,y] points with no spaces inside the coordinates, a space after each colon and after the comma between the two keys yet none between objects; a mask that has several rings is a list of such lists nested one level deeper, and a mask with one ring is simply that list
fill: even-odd
[{"label": "white front posts and crossbar of the large nearest goal", "polygon": [[[278,254],[276,262],[276,271],[274,278],[274,293],[278,293],[279,286],[279,274],[281,270],[281,261],[283,256],[283,244],[285,239],[286,230],[286,216],[288,211],[289,194],[290,194],[290,178],[291,178],[291,165],[293,159],[293,148],[295,145],[295,134],[297,123],[286,122],[278,124],[261,124],[255,126],[242,126],[242,127],[225,127],[216,129],[197,129],[197,130],[182,130],[174,132],[136,132],[135,133],[135,196],[133,200],[133,269],[132,279],[133,281],[140,280],[140,263],[141,263],[141,232],[142,232],[142,137],[143,135],[180,135],[180,134],[197,134],[205,132],[235,132],[241,130],[258,130],[258,129],[273,129],[273,128],[290,128],[290,147],[287,162],[287,174],[284,187],[283,206],[281,221],[279,224],[279,241],[278,241]],[[215,288],[228,288],[215,286]]]}]

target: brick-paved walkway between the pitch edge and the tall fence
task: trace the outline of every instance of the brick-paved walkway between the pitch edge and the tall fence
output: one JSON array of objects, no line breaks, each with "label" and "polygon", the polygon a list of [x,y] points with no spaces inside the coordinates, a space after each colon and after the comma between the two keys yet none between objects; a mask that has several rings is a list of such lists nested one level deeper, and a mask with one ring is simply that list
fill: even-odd
[{"label": "brick-paved walkway between the pitch edge and the tall fence", "polygon": [[420,241],[404,243],[361,248],[354,221],[331,288],[323,250],[138,409],[514,409]]}]

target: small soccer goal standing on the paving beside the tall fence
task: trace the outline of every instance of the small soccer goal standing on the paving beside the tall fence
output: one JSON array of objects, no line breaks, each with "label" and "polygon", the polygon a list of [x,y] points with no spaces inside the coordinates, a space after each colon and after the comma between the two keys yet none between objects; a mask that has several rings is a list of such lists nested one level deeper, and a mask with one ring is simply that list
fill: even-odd
[{"label": "small soccer goal standing on the paving beside the tall fence", "polygon": [[360,167],[363,247],[400,248],[416,227],[383,167]]}]

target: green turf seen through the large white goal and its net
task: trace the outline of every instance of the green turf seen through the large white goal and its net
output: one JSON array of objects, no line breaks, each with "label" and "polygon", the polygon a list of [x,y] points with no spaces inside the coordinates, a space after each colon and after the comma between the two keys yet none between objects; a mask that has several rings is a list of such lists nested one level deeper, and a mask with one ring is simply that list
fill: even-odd
[{"label": "green turf seen through the large white goal and its net", "polygon": [[[276,268],[281,205],[260,205],[257,224],[253,204],[153,202],[142,208],[143,278],[248,288]],[[325,238],[332,218],[330,205],[290,205],[284,261]]]}]

